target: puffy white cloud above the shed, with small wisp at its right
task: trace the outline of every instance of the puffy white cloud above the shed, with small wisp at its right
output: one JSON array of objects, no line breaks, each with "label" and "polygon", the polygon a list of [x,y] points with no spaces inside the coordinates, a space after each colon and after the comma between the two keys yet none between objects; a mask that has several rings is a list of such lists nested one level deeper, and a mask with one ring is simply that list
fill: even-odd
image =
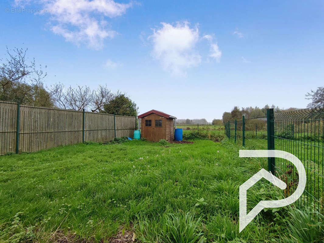
[{"label": "puffy white cloud above the shed, with small wisp at its right", "polygon": [[[198,25],[190,28],[187,21],[177,22],[175,25],[161,24],[162,27],[153,29],[153,34],[148,38],[153,43],[153,56],[161,62],[166,71],[173,75],[185,76],[187,69],[199,65],[202,60],[197,50],[197,43],[201,40]],[[209,37],[212,38],[209,35],[203,38]],[[211,44],[211,49],[213,51],[210,55],[219,60],[221,52],[217,43]]]}]

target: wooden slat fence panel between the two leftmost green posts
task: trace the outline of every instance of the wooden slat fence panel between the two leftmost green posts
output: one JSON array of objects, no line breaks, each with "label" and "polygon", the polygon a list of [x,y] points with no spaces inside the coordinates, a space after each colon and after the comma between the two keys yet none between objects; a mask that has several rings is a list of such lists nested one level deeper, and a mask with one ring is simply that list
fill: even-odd
[{"label": "wooden slat fence panel between the two leftmost green posts", "polygon": [[80,111],[20,105],[19,152],[82,142]]}]

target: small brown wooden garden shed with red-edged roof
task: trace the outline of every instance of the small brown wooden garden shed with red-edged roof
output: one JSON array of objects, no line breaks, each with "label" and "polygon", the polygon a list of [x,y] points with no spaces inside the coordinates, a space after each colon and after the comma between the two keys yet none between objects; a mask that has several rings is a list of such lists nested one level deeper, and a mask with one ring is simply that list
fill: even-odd
[{"label": "small brown wooden garden shed with red-edged roof", "polygon": [[174,140],[173,122],[177,117],[162,111],[150,110],[138,116],[141,119],[141,137],[149,141]]}]

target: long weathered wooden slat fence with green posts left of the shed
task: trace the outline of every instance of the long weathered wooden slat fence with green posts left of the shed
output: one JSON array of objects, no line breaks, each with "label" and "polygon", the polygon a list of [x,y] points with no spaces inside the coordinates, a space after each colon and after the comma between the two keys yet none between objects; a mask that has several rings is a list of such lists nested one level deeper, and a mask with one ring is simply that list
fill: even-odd
[{"label": "long weathered wooden slat fence with green posts left of the shed", "polygon": [[132,137],[136,117],[0,101],[0,155]]}]

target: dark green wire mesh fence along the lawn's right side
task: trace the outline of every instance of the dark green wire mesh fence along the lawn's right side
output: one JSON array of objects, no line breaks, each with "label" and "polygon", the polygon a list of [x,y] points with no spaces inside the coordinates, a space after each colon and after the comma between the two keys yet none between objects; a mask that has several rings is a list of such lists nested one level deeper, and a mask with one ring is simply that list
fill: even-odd
[{"label": "dark green wire mesh fence along the lawn's right side", "polygon": [[[244,124],[245,123],[245,124]],[[247,149],[277,149],[294,154],[304,164],[307,183],[296,205],[324,214],[324,109],[313,107],[283,113],[267,110],[267,116],[242,117],[225,123],[228,139]],[[285,196],[298,184],[298,173],[291,162],[260,158],[260,165],[287,183]]]}]

